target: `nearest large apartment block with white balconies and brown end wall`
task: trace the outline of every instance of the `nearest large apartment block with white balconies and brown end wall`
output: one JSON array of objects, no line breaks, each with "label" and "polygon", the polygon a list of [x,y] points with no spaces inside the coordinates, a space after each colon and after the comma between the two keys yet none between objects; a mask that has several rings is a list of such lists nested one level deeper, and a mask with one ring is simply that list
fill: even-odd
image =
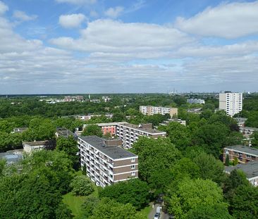
[{"label": "nearest large apartment block with white balconies and brown end wall", "polygon": [[80,163],[97,186],[138,177],[138,156],[119,147],[121,140],[105,140],[97,136],[78,138]]}]

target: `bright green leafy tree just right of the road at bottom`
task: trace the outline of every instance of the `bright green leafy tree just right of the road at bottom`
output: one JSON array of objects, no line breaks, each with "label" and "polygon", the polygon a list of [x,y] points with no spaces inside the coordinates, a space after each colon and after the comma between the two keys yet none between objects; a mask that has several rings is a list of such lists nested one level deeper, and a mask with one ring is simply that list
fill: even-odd
[{"label": "bright green leafy tree just right of the road at bottom", "polygon": [[178,184],[176,194],[171,196],[168,204],[169,213],[176,218],[185,217],[190,210],[199,206],[214,206],[223,203],[222,189],[211,180],[182,180]]}]

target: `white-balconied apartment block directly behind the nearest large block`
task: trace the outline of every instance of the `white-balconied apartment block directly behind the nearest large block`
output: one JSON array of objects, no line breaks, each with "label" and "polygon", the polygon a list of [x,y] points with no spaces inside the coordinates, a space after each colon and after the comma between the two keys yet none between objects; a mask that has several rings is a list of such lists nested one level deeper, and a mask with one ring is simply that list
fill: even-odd
[{"label": "white-balconied apartment block directly behind the nearest large block", "polygon": [[140,136],[166,137],[166,132],[154,130],[152,124],[133,125],[130,123],[119,124],[116,127],[116,136],[123,142],[125,149],[130,149]]}]

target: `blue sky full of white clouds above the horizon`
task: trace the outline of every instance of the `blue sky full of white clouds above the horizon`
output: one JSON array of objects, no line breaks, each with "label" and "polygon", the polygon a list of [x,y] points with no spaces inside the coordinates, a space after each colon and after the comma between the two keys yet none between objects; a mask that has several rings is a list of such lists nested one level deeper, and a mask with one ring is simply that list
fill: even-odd
[{"label": "blue sky full of white clouds above the horizon", "polygon": [[0,94],[258,92],[258,1],[0,0]]}]

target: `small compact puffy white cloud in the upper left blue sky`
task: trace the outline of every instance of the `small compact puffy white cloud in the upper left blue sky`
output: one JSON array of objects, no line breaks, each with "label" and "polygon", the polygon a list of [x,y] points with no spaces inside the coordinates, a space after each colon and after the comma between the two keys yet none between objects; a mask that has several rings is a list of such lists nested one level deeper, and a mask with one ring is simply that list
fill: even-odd
[{"label": "small compact puffy white cloud in the upper left blue sky", "polygon": [[59,17],[59,24],[65,28],[80,27],[85,20],[85,15],[82,13],[74,13],[70,15],[61,15]]}]

